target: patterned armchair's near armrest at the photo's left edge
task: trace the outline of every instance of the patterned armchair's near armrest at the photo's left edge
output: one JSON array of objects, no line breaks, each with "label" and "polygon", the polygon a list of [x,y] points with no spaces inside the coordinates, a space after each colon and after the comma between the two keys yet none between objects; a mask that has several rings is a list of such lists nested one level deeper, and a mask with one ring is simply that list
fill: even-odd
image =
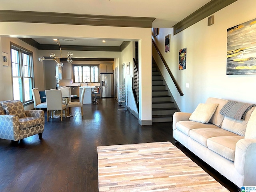
[{"label": "patterned armchair's near armrest at the photo's left edge", "polygon": [[20,122],[18,116],[0,115],[0,138],[18,141],[20,135]]}]

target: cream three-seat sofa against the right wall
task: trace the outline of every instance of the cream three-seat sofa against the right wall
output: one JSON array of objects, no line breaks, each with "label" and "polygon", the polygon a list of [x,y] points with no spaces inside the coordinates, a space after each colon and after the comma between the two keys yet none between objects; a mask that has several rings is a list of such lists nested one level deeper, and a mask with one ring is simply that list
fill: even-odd
[{"label": "cream three-seat sofa against the right wall", "polygon": [[220,114],[227,102],[206,100],[205,104],[218,104],[208,123],[189,120],[192,113],[176,112],[174,139],[238,187],[256,186],[255,107],[246,112],[244,120],[236,120]]}]

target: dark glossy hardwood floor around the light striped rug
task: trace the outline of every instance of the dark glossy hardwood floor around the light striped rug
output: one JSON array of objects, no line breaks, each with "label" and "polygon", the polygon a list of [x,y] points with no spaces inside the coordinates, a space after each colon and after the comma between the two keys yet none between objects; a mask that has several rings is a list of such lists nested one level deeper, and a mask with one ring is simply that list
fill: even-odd
[{"label": "dark glossy hardwood floor around the light striped rug", "polygon": [[172,123],[140,126],[113,98],[73,108],[73,117],[45,122],[43,140],[25,138],[18,146],[0,139],[1,192],[98,192],[97,146],[170,141],[230,191],[238,188],[172,137]]}]

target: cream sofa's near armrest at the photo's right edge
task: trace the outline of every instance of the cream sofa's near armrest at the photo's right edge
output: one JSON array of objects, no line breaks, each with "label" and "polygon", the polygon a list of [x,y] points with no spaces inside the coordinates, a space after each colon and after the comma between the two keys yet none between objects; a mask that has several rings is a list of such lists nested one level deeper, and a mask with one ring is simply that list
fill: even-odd
[{"label": "cream sofa's near armrest at the photo's right edge", "polygon": [[234,166],[244,175],[244,185],[256,185],[256,139],[241,139],[236,143]]}]

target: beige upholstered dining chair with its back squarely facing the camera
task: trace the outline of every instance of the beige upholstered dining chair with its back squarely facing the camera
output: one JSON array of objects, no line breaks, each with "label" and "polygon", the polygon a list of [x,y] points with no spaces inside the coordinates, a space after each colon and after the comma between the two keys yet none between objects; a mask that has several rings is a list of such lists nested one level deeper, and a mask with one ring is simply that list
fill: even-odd
[{"label": "beige upholstered dining chair with its back squarely facing the camera", "polygon": [[51,113],[53,116],[54,110],[61,111],[61,115],[60,115],[61,121],[62,121],[63,110],[65,110],[65,118],[66,118],[67,106],[65,104],[62,104],[61,90],[56,90],[56,89],[45,90],[45,95],[46,95],[46,104],[47,104],[47,121],[49,121],[49,112],[50,112],[50,116],[51,116]]}]

